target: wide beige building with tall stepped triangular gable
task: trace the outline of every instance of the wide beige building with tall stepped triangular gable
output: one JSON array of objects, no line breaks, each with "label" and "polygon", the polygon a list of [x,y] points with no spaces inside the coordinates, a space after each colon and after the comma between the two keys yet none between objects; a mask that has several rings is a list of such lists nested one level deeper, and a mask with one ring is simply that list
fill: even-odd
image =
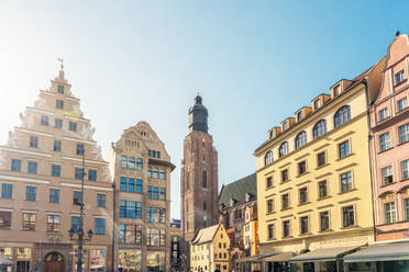
[{"label": "wide beige building with tall stepped triangular gable", "polygon": [[112,184],[108,162],[92,138],[64,70],[40,91],[34,106],[0,147],[0,257],[12,271],[75,271],[82,152],[85,152],[85,271],[111,269]]}]

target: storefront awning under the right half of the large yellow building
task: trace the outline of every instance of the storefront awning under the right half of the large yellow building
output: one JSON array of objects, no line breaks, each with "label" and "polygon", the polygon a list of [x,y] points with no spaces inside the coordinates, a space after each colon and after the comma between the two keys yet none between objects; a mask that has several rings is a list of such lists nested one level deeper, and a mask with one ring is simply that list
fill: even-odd
[{"label": "storefront awning under the right half of the large yellow building", "polygon": [[336,248],[320,248],[305,254],[296,256],[290,259],[290,262],[325,262],[336,261],[339,256],[351,252],[361,246],[336,247]]}]

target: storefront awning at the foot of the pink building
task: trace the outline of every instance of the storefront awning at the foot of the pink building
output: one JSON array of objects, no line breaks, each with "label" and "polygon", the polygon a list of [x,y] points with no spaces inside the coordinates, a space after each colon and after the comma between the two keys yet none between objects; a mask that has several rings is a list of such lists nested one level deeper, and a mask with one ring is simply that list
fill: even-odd
[{"label": "storefront awning at the foot of the pink building", "polygon": [[375,262],[409,260],[409,242],[373,245],[344,257],[345,262]]}]

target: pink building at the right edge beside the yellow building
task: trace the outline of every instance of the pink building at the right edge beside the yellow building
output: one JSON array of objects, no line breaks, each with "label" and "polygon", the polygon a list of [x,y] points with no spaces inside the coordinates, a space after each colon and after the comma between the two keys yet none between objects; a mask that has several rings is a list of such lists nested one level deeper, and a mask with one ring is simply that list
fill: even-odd
[{"label": "pink building at the right edge beside the yellow building", "polygon": [[376,240],[409,240],[409,39],[388,48],[380,92],[372,107]]}]

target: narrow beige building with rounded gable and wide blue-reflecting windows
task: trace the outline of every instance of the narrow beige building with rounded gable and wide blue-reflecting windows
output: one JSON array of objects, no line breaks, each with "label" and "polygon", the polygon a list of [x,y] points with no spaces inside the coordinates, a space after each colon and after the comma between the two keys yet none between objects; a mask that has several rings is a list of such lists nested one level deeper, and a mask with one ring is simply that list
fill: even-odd
[{"label": "narrow beige building with rounded gable and wide blue-reflecting windows", "polygon": [[112,144],[115,183],[115,258],[119,271],[170,270],[170,172],[164,143],[146,122]]}]

